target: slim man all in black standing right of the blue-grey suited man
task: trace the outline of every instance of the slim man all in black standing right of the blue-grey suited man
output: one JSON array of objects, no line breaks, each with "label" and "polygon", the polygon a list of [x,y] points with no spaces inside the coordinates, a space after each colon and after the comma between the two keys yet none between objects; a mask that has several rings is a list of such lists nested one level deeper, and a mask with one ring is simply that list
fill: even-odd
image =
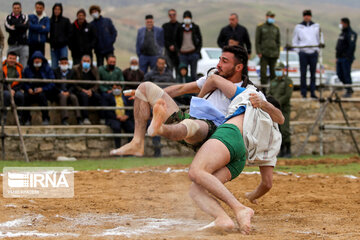
[{"label": "slim man all in black standing right of the blue-grey suited man", "polygon": [[179,67],[179,56],[176,51],[176,32],[181,27],[181,24],[176,20],[176,10],[170,9],[168,11],[170,21],[164,23],[162,28],[164,29],[164,45],[165,55],[169,64],[169,69],[178,70]]}]

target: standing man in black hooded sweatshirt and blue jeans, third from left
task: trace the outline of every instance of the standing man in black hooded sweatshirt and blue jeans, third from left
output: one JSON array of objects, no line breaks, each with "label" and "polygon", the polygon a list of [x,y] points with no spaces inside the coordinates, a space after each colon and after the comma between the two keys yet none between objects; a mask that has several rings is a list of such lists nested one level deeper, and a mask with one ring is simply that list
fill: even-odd
[{"label": "standing man in black hooded sweatshirt and blue jeans, third from left", "polygon": [[68,57],[68,41],[70,35],[70,20],[63,17],[63,7],[61,3],[55,3],[53,14],[50,19],[50,48],[51,48],[51,67],[57,68],[60,58]]}]

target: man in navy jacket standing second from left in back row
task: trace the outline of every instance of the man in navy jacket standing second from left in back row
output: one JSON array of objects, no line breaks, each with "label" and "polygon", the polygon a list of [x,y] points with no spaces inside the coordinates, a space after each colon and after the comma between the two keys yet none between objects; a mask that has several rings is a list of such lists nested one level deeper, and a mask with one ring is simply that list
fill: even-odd
[{"label": "man in navy jacket standing second from left in back row", "polygon": [[45,56],[45,42],[50,32],[50,19],[45,13],[43,1],[35,3],[34,14],[29,15],[29,55],[40,51]]}]

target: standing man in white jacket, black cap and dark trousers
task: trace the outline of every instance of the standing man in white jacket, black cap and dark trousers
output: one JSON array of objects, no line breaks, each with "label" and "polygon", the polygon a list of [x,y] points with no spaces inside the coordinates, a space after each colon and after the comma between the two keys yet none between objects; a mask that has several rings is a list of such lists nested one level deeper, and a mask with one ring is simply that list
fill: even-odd
[{"label": "standing man in white jacket, black cap and dark trousers", "polygon": [[311,21],[311,10],[303,11],[303,19],[294,29],[292,45],[295,47],[315,46],[310,48],[295,48],[300,58],[300,89],[303,98],[307,96],[306,75],[307,67],[310,67],[310,92],[311,98],[317,99],[315,94],[316,86],[316,65],[320,47],[324,47],[324,37],[318,23]]}]

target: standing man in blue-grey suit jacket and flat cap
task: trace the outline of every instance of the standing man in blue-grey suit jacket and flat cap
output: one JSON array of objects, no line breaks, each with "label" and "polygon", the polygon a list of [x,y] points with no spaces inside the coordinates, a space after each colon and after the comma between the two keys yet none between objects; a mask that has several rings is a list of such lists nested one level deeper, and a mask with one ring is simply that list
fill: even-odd
[{"label": "standing man in blue-grey suit jacket and flat cap", "polygon": [[163,55],[164,31],[154,26],[153,15],[145,16],[145,27],[138,30],[136,38],[136,54],[139,57],[140,69],[144,73],[153,69],[156,59]]}]

